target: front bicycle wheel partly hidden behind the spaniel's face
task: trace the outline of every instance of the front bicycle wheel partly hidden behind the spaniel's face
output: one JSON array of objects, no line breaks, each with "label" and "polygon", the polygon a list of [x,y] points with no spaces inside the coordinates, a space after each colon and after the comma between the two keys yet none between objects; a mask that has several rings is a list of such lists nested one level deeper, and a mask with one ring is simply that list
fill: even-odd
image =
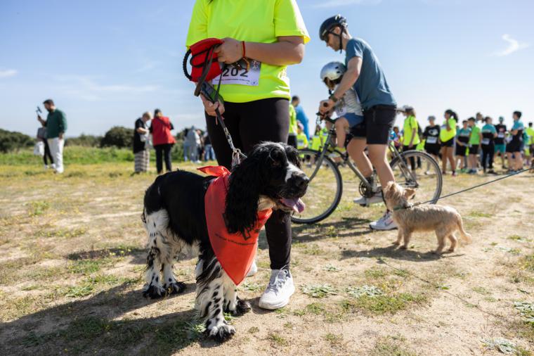
[{"label": "front bicycle wheel partly hidden behind the spaniel's face", "polygon": [[304,148],[299,150],[301,169],[310,177],[306,194],[302,201],[306,209],[299,214],[292,215],[291,220],[296,224],[313,224],[320,222],[334,212],[341,200],[343,182],[336,164],[327,156],[318,167],[320,152]]}]

